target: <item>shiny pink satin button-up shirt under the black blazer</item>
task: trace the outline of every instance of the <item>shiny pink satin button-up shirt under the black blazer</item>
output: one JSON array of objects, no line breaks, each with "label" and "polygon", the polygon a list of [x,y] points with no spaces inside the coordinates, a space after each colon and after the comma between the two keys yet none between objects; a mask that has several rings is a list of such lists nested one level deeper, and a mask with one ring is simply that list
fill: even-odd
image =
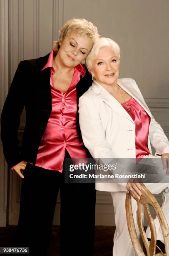
[{"label": "shiny pink satin button-up shirt under the black blazer", "polygon": [[[79,64],[75,67],[72,82],[63,94],[53,85],[53,55],[50,53],[45,68],[51,68],[50,85],[52,94],[52,112],[47,128],[38,148],[36,166],[62,172],[65,149],[71,158],[87,158],[82,139],[77,133],[77,95],[76,85],[80,81],[80,74],[85,75],[84,67]],[[43,70],[42,69],[42,70]]]}]

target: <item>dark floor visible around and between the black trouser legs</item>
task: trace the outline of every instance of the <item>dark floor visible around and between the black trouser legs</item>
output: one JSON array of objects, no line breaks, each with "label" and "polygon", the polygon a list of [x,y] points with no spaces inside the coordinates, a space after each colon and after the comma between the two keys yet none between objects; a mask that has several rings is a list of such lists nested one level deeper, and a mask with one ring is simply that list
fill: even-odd
[{"label": "dark floor visible around and between the black trouser legs", "polygon": [[[0,247],[10,245],[15,234],[16,226],[10,225],[7,228],[0,228]],[[95,227],[95,252],[94,256],[112,256],[113,236],[115,227]],[[60,226],[53,226],[48,256],[59,256]]]}]

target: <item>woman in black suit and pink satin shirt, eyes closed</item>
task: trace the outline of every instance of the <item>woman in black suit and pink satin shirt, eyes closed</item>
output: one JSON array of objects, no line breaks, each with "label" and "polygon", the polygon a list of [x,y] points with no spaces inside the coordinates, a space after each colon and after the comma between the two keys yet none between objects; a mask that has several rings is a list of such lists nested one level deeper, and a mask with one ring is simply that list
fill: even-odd
[{"label": "woman in black suit and pink satin shirt, eyes closed", "polygon": [[[92,83],[82,61],[98,37],[91,22],[68,20],[49,54],[20,62],[2,110],[5,159],[22,178],[13,246],[29,247],[29,255],[47,254],[59,189],[60,255],[93,255],[95,187],[65,184],[64,163],[65,158],[89,156],[79,128],[78,100]],[[24,107],[20,147],[17,130]]]}]

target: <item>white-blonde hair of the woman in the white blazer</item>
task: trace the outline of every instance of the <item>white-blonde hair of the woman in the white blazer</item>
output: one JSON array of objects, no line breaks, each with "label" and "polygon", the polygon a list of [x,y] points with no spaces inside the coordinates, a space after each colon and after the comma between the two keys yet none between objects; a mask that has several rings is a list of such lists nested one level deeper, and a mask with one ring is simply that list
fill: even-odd
[{"label": "white-blonde hair of the woman in the white blazer", "polygon": [[117,58],[120,59],[119,45],[110,38],[100,37],[98,38],[97,42],[94,44],[92,50],[90,51],[90,53],[87,55],[87,58],[86,58],[85,64],[89,72],[90,72],[90,69],[92,68],[92,61],[96,59],[97,54],[99,53],[99,49],[104,46],[110,46],[114,50]]}]

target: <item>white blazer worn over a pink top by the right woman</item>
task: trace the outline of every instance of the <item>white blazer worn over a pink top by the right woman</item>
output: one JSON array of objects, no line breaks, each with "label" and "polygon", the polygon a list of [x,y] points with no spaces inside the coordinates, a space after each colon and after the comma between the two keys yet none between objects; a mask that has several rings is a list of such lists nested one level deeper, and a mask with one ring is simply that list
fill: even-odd
[{"label": "white blazer worn over a pink top by the right woman", "polygon": [[[155,155],[169,153],[169,141],[152,116],[144,98],[131,78],[118,79],[122,87],[150,116],[148,148]],[[135,124],[122,105],[97,82],[93,81],[79,99],[80,129],[85,146],[93,158],[135,158]],[[126,184],[96,183],[102,191],[126,191]]]}]

